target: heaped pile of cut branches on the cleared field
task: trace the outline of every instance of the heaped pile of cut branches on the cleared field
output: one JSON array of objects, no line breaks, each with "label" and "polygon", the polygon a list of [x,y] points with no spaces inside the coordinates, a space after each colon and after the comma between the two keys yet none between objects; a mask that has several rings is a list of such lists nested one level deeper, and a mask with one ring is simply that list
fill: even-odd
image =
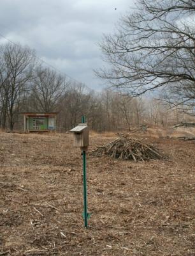
[{"label": "heaped pile of cut branches on the cleared field", "polygon": [[157,148],[135,138],[128,138],[128,134],[90,151],[89,155],[107,155],[112,159],[127,159],[135,162],[164,158]]}]

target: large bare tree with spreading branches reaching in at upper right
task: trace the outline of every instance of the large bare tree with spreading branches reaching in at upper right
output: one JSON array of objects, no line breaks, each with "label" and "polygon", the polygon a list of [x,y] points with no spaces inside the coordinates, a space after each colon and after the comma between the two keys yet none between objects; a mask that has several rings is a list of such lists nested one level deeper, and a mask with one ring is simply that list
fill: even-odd
[{"label": "large bare tree with spreading branches reaching in at upper right", "polygon": [[117,88],[141,95],[163,87],[173,101],[194,108],[194,0],[140,0],[101,43],[111,68],[96,74]]}]

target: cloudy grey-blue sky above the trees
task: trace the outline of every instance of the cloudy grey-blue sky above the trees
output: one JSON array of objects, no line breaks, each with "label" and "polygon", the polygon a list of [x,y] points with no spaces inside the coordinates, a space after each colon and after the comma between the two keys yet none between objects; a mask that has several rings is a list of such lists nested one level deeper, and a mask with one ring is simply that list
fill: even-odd
[{"label": "cloudy grey-blue sky above the trees", "polygon": [[[0,34],[27,44],[37,56],[92,89],[103,81],[98,42],[112,33],[133,0],[0,0]],[[115,10],[117,8],[117,10]],[[0,35],[0,43],[6,40]]]}]

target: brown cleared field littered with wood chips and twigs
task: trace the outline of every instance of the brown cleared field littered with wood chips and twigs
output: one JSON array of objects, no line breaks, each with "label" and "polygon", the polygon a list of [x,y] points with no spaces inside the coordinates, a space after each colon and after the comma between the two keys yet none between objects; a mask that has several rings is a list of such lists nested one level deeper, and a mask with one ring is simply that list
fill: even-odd
[{"label": "brown cleared field littered with wood chips and twigs", "polygon": [[168,159],[87,157],[86,229],[72,135],[1,132],[0,255],[195,255],[195,143],[142,137]]}]

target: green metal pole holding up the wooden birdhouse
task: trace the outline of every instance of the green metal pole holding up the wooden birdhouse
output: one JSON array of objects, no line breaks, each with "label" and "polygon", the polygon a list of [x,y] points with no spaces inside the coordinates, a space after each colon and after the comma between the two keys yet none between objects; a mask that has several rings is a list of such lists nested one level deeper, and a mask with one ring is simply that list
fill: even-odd
[{"label": "green metal pole holding up the wooden birdhouse", "polygon": [[[82,116],[82,123],[85,123],[85,116]],[[86,152],[83,150],[83,203],[84,203],[84,225],[87,228],[87,171],[86,171]]]}]

